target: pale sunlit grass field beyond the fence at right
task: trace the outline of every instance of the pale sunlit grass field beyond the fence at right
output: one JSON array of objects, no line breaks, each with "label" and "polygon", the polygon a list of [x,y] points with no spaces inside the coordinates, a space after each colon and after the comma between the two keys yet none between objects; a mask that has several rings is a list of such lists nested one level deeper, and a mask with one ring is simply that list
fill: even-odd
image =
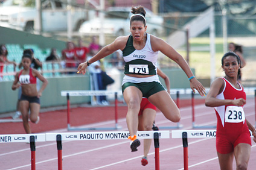
[{"label": "pale sunlit grass field beyond the fence at right", "polygon": [[[255,39],[251,37],[230,39],[228,42],[240,43],[243,45],[244,57],[246,66],[242,69],[243,80],[256,80],[254,74],[256,73],[256,60],[253,54],[256,51]],[[216,38],[216,56],[215,56],[215,69],[216,77],[223,76],[221,68],[221,58],[223,56],[223,40]],[[251,46],[254,45],[254,46]],[[177,49],[177,51],[186,56],[184,50]],[[211,55],[210,55],[210,39],[208,37],[197,37],[190,39],[190,66],[196,69],[196,76],[199,78],[210,78],[211,75]],[[252,74],[254,73],[254,74]]]}]

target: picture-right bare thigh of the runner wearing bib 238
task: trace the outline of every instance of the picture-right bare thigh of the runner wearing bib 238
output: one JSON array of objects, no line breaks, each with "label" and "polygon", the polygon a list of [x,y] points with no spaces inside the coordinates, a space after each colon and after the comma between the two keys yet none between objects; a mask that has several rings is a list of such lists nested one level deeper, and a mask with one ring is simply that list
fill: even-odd
[{"label": "picture-right bare thigh of the runner wearing bib 238", "polygon": [[251,145],[247,143],[239,143],[234,148],[234,156],[235,161],[237,165],[240,165],[241,163],[248,164],[249,158],[251,155]]}]

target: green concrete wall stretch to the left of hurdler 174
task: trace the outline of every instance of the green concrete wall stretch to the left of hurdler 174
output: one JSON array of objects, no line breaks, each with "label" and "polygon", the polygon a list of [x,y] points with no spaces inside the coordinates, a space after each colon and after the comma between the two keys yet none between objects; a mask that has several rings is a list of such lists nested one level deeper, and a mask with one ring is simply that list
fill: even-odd
[{"label": "green concrete wall stretch to the left of hurdler 174", "polygon": [[[89,76],[66,76],[48,78],[48,86],[40,97],[41,107],[54,107],[66,105],[66,97],[60,96],[62,90],[88,90]],[[11,90],[12,81],[0,82],[0,113],[14,112],[18,99],[18,89]],[[70,97],[71,104],[89,102],[89,96]]]}]

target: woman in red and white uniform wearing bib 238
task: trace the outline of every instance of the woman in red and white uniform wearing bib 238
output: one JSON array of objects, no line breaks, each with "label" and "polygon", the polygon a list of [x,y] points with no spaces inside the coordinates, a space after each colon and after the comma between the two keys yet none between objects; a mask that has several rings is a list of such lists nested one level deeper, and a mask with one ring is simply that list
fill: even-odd
[{"label": "woman in red and white uniform wearing bib 238", "polygon": [[249,130],[256,142],[255,128],[246,120],[243,110],[246,94],[237,81],[240,65],[240,58],[234,52],[223,55],[225,77],[213,81],[205,99],[205,105],[216,111],[216,149],[220,169],[225,170],[232,169],[234,156],[237,169],[247,169],[252,145]]}]

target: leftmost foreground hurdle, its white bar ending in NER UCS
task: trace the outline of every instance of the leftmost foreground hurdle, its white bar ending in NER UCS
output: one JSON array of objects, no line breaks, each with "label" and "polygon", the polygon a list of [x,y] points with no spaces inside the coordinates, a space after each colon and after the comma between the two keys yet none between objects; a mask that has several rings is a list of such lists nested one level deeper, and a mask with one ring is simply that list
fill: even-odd
[{"label": "leftmost foreground hurdle, its white bar ending in NER UCS", "polygon": [[45,142],[45,134],[1,134],[0,143],[30,142],[31,170],[36,170],[36,142]]}]

